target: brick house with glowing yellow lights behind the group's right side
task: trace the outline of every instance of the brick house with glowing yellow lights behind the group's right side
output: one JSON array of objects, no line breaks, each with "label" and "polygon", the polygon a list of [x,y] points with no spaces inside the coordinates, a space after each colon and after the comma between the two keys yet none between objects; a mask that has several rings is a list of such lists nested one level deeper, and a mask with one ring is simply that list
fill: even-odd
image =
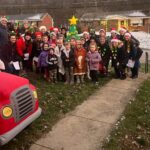
[{"label": "brick house with glowing yellow lights behind the group's right side", "polygon": [[130,31],[150,32],[150,15],[141,11],[116,12],[115,14],[106,13],[86,13],[80,18],[81,30],[100,28],[110,31],[111,28],[123,26]]}]

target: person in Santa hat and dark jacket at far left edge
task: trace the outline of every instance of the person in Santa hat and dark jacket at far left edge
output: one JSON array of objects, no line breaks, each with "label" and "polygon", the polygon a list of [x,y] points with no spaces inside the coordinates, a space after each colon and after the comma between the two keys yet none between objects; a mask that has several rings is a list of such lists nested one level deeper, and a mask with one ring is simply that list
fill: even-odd
[{"label": "person in Santa hat and dark jacket at far left edge", "polygon": [[0,18],[0,47],[7,44],[9,41],[7,22],[8,20],[5,16]]}]

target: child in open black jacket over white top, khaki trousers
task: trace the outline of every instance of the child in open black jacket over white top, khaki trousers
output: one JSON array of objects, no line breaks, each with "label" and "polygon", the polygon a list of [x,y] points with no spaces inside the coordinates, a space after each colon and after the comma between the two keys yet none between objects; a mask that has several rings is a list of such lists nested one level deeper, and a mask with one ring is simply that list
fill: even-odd
[{"label": "child in open black jacket over white top, khaki trousers", "polygon": [[74,52],[71,49],[70,43],[65,43],[65,49],[62,51],[61,58],[65,68],[66,82],[65,84],[74,84],[73,67],[74,67]]}]

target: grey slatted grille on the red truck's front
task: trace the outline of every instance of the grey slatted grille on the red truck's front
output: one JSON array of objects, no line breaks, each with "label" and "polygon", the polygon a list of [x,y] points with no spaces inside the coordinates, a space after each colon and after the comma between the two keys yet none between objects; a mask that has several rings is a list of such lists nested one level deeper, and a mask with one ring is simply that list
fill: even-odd
[{"label": "grey slatted grille on the red truck's front", "polygon": [[34,111],[35,100],[29,86],[23,86],[11,94],[11,102],[16,122]]}]

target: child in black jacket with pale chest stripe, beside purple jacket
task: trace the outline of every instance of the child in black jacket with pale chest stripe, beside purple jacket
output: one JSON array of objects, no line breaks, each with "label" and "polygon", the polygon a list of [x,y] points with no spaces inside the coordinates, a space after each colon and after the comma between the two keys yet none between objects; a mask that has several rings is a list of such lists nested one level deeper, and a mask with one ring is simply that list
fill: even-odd
[{"label": "child in black jacket with pale chest stripe, beside purple jacket", "polygon": [[49,49],[49,54],[46,58],[46,62],[48,63],[49,81],[56,83],[58,57],[54,54],[54,48],[52,47]]}]

